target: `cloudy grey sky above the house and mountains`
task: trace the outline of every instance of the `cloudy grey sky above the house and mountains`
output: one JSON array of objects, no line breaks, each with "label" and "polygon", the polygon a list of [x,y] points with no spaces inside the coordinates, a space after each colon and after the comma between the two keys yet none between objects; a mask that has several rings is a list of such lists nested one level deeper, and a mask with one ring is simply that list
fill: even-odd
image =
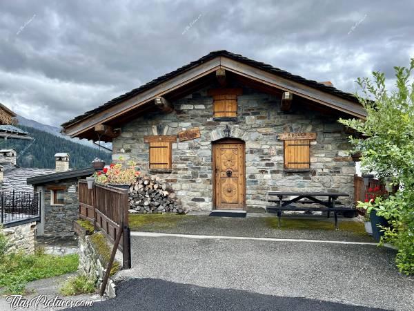
[{"label": "cloudy grey sky above the house and mountains", "polygon": [[0,102],[59,125],[211,50],[355,92],[414,57],[414,1],[1,1]]}]

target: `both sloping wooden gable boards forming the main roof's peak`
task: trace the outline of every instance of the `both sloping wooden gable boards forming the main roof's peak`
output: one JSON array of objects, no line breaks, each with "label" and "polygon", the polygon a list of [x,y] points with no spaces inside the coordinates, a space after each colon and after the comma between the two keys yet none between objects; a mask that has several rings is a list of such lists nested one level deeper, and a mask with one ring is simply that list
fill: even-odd
[{"label": "both sloping wooden gable boards forming the main roof's peak", "polygon": [[249,79],[253,79],[254,81],[272,86],[274,88],[282,89],[283,91],[292,92],[295,95],[305,97],[308,100],[318,102],[324,106],[329,106],[338,111],[343,111],[344,113],[348,113],[349,115],[353,115],[355,117],[362,119],[366,117],[366,111],[364,108],[355,102],[351,102],[342,97],[337,97],[323,91],[319,91],[315,88],[311,88],[311,86],[306,86],[304,84],[300,84],[299,82],[294,82],[284,77],[279,77],[272,73],[267,73],[264,70],[255,68],[250,65],[242,64],[228,57],[217,56],[214,59],[210,59],[208,62],[199,64],[199,66],[191,68],[190,70],[181,73],[177,77],[172,77],[168,81],[154,86],[153,88],[150,88],[149,90],[144,91],[135,97],[130,98],[129,100],[126,100],[125,102],[120,102],[119,104],[112,106],[105,111],[91,115],[85,120],[80,120],[79,122],[72,124],[64,129],[63,133],[70,136],[71,138],[77,137],[77,135],[80,135],[81,133],[92,129],[96,124],[108,122],[115,117],[119,117],[120,115],[127,113],[132,109],[137,109],[141,106],[144,106],[145,104],[154,104],[153,101],[156,97],[166,95],[170,91],[174,91],[177,88],[186,86],[186,84],[189,84],[190,82],[193,82],[200,77],[204,77],[209,73],[213,73],[219,68],[224,68],[229,72],[241,75],[243,77],[248,77]]}]

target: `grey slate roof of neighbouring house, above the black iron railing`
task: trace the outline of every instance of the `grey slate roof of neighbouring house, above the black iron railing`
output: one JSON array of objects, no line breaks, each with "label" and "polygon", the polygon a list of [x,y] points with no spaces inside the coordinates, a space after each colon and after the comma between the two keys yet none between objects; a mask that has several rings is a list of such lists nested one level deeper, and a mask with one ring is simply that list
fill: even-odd
[{"label": "grey slate roof of neighbouring house, above the black iron railing", "polygon": [[50,174],[55,171],[55,169],[23,168],[10,163],[4,163],[2,165],[3,183],[0,184],[0,187],[3,190],[33,192],[32,185],[28,185],[27,183],[28,178]]}]

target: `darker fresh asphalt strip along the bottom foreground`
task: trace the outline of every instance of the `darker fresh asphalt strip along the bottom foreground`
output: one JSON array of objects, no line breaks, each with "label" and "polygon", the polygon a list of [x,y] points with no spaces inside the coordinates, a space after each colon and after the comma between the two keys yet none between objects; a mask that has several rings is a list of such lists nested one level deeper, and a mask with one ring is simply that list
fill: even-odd
[{"label": "darker fresh asphalt strip along the bottom foreground", "polygon": [[115,299],[71,310],[383,310],[244,290],[203,288],[159,279],[130,279],[121,283],[118,291]]}]

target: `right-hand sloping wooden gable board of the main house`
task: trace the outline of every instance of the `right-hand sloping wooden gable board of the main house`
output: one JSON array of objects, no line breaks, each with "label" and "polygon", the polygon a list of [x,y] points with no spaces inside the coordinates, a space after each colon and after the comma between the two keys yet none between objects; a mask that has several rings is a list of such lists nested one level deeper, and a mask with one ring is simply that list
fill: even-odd
[{"label": "right-hand sloping wooden gable board of the main house", "polygon": [[337,97],[335,95],[319,91],[315,88],[311,88],[311,86],[306,86],[304,84],[300,84],[299,82],[294,82],[284,77],[267,73],[264,70],[242,64],[228,57],[222,56],[220,64],[226,70],[237,75],[242,75],[269,86],[292,92],[293,94],[308,98],[308,100],[313,100],[314,102],[343,111],[349,115],[354,115],[355,117],[362,119],[366,117],[364,107],[342,97]]}]

